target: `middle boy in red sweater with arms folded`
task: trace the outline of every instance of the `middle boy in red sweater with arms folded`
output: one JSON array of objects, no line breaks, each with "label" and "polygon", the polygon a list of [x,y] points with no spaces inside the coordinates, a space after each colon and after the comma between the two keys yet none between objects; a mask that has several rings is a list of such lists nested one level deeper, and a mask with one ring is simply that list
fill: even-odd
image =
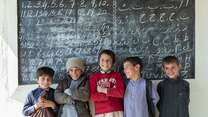
[{"label": "middle boy in red sweater with arms folded", "polygon": [[100,72],[90,76],[90,99],[95,104],[96,117],[123,117],[124,81],[112,70],[115,54],[103,50],[98,56]]}]

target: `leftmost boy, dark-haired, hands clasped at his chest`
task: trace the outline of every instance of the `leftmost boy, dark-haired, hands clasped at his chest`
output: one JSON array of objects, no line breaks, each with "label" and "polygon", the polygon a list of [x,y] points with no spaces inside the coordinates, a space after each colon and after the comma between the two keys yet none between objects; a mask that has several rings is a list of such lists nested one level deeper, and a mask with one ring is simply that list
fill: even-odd
[{"label": "leftmost boy, dark-haired, hands clasped at his chest", "polygon": [[39,109],[53,109],[51,114],[55,117],[57,106],[54,101],[54,89],[50,88],[54,70],[49,67],[40,67],[36,75],[39,87],[28,94],[23,107],[23,114],[25,116],[34,116]]}]

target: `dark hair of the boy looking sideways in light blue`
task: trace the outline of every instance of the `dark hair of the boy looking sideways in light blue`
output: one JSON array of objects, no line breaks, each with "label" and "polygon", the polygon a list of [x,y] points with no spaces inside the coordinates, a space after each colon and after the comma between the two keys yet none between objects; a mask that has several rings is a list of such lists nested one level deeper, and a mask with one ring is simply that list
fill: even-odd
[{"label": "dark hair of the boy looking sideways in light blue", "polygon": [[140,65],[140,70],[142,70],[142,68],[143,68],[142,59],[140,59],[138,56],[132,56],[132,57],[125,58],[124,61],[123,61],[123,64],[127,61],[132,63],[133,65],[139,64]]}]

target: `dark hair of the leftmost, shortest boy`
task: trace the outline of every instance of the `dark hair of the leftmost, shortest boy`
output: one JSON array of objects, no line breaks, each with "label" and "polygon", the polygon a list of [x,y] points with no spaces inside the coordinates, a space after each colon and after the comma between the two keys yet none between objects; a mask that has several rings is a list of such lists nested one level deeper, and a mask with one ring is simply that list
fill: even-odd
[{"label": "dark hair of the leftmost, shortest boy", "polygon": [[37,69],[37,72],[36,72],[36,77],[40,77],[42,75],[49,75],[51,78],[53,78],[53,75],[54,75],[54,70],[50,67],[40,67]]}]

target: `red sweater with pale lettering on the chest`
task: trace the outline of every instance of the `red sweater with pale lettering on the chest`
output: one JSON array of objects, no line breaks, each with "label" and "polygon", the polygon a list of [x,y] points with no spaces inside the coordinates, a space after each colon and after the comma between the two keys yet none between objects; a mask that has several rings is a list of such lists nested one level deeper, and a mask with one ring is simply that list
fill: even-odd
[{"label": "red sweater with pale lettering on the chest", "polygon": [[[95,114],[123,111],[124,80],[120,73],[94,73],[90,76],[90,99]],[[97,92],[97,86],[107,88],[107,94]]]}]

